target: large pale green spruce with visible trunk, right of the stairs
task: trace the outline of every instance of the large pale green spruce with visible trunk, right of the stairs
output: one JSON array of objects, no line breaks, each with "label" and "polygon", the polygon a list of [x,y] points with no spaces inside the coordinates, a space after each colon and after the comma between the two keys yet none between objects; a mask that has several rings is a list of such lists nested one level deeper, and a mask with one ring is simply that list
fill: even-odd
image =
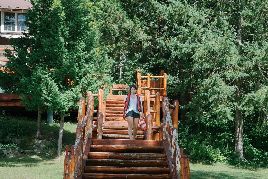
[{"label": "large pale green spruce with visible trunk, right of the stairs", "polygon": [[208,126],[235,118],[235,152],[240,160],[244,110],[263,111],[267,121],[267,5],[258,0],[158,4],[173,32],[161,46],[181,66],[180,91],[192,90],[192,99],[183,108],[190,109],[190,119]]}]

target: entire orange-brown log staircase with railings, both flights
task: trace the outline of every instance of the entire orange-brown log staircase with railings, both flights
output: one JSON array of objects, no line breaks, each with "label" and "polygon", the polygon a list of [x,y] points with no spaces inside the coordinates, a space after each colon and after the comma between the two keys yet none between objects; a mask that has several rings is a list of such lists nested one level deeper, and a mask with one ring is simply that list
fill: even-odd
[{"label": "entire orange-brown log staircase with railings, both flights", "polygon": [[71,149],[66,146],[63,178],[190,178],[189,158],[178,146],[179,103],[169,103],[166,78],[162,71],[159,76],[141,76],[137,70],[146,130],[139,127],[135,140],[129,140],[128,124],[122,118],[125,95],[113,95],[127,91],[126,85],[113,85],[106,100],[103,89],[98,94],[88,92],[87,100],[81,97],[76,141]]}]

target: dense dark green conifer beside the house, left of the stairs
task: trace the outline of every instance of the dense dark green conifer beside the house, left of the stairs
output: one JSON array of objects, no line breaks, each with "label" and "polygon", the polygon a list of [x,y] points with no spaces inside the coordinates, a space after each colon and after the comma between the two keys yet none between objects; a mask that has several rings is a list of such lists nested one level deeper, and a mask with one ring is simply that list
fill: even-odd
[{"label": "dense dark green conifer beside the house, left of the stairs", "polygon": [[85,92],[96,93],[112,80],[107,74],[106,55],[96,47],[98,30],[90,3],[37,0],[32,4],[27,13],[29,33],[12,40],[16,56],[8,55],[6,70],[16,75],[1,73],[1,79],[5,79],[1,86],[7,86],[7,92],[19,94],[29,109],[45,106],[60,114],[60,156],[68,110],[77,107]]}]

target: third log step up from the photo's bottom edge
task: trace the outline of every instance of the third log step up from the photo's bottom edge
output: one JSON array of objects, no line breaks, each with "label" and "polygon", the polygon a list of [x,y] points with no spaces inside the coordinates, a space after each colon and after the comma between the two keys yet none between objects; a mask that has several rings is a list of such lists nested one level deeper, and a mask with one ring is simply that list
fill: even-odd
[{"label": "third log step up from the photo's bottom edge", "polygon": [[87,166],[167,167],[167,160],[86,159]]}]

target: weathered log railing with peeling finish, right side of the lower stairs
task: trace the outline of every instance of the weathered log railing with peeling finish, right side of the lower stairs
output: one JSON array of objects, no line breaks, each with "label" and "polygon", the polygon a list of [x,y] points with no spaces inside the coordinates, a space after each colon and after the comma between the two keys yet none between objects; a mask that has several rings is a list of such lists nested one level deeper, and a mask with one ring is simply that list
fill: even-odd
[{"label": "weathered log railing with peeling finish, right side of the lower stairs", "polygon": [[[170,115],[170,111],[172,111],[172,115]],[[173,178],[190,178],[189,158],[187,155],[183,155],[183,149],[178,145],[178,101],[174,100],[171,105],[168,98],[163,97],[162,112],[163,123],[160,125],[159,140],[164,140],[168,144],[167,152],[171,156]]]}]

